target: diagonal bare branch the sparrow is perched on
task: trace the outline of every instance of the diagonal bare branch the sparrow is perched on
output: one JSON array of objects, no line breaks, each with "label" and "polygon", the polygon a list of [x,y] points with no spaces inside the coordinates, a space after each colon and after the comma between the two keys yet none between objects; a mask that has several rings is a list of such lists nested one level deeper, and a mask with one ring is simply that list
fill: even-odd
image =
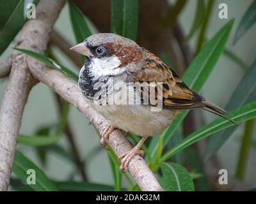
[{"label": "diagonal bare branch the sparrow is perched on", "polygon": [[[30,57],[28,58],[28,66],[33,77],[51,87],[52,91],[58,93],[65,101],[76,106],[80,112],[84,113],[92,121],[95,128],[99,129],[99,131],[102,131],[102,129],[109,125],[108,120],[104,119],[102,115],[88,105],[79,87],[60,73],[60,71],[49,69],[41,62]],[[128,142],[122,131],[118,129],[109,136],[109,145],[117,156],[132,149],[131,143]],[[128,170],[142,191],[163,191],[156,177],[140,156],[135,156],[131,160]]]}]

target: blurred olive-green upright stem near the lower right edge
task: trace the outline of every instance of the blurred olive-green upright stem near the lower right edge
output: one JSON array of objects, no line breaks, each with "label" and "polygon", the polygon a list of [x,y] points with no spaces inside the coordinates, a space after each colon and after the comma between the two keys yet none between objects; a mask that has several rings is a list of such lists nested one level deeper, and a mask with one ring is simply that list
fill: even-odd
[{"label": "blurred olive-green upright stem near the lower right edge", "polygon": [[244,179],[244,175],[246,172],[246,163],[248,160],[249,150],[253,138],[254,122],[255,119],[252,119],[248,120],[245,124],[244,135],[242,138],[242,143],[239,151],[239,159],[236,168],[236,178],[239,180]]}]

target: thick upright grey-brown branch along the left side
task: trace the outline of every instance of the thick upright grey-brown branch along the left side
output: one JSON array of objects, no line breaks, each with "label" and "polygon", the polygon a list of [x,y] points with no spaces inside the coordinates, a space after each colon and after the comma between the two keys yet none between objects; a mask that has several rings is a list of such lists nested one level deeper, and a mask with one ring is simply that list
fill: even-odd
[{"label": "thick upright grey-brown branch along the left side", "polygon": [[[44,53],[56,21],[65,1],[42,0],[36,8],[36,19],[29,20],[20,33],[17,47]],[[28,94],[36,84],[26,62],[26,55],[14,51],[12,70],[0,108],[0,191],[6,191],[12,171],[22,112]]]}]

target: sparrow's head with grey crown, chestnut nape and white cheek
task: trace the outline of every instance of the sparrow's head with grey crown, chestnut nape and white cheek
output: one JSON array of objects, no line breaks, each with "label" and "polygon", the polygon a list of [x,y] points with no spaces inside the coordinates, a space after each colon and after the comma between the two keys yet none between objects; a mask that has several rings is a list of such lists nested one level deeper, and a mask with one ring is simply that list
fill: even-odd
[{"label": "sparrow's head with grey crown, chestnut nape and white cheek", "polygon": [[70,48],[86,57],[94,77],[115,76],[141,61],[141,48],[134,41],[113,33],[98,33]]}]

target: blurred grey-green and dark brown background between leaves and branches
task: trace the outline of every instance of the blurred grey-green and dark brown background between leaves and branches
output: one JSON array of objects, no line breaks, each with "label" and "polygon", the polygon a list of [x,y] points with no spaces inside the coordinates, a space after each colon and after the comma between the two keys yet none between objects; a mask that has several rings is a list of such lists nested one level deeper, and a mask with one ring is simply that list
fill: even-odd
[{"label": "blurred grey-green and dark brown background between leaves and branches", "polygon": [[[209,18],[209,25],[205,37],[210,39],[223,25],[227,24],[228,20],[235,18],[234,25],[228,38],[226,49],[231,50],[233,54],[236,54],[241,61],[244,62],[244,66],[251,66],[255,61],[256,42],[255,34],[256,27],[253,26],[247,33],[244,34],[235,45],[232,45],[232,40],[236,33],[236,28],[239,21],[243,17],[246,9],[253,1],[246,0],[222,0],[214,1],[212,13]],[[175,47],[175,43],[172,42],[173,35],[181,37],[182,43],[186,43],[186,47],[189,47],[189,52],[195,53],[198,33],[196,32],[189,41],[184,40],[184,36],[188,36],[191,25],[193,24],[193,17],[196,15],[196,0],[189,0],[184,8],[180,11],[177,17],[177,24],[172,29],[158,29],[156,21],[168,14],[168,7],[166,4],[175,4],[176,1],[150,1],[143,0],[139,3],[139,29],[138,29],[138,43],[139,45],[147,48],[154,54],[160,55],[164,59],[168,59],[173,68],[181,75],[183,71],[188,67],[191,57],[188,55],[187,61],[180,63],[176,62],[175,57],[180,57],[180,50]],[[228,19],[220,19],[218,13],[220,9],[218,5],[225,3],[228,6]],[[110,1],[74,1],[74,4],[83,11],[84,15],[88,17],[88,22],[92,26],[92,29],[97,32],[109,32],[110,27]],[[97,29],[95,28],[97,27]],[[70,22],[70,13],[68,11],[68,5],[61,11],[60,17],[54,25],[55,31],[57,31],[63,38],[65,38],[70,45],[76,45],[76,38],[72,31],[72,25]],[[182,31],[182,35],[180,35]],[[17,35],[19,36],[19,34]],[[172,46],[170,46],[172,43]],[[177,42],[176,42],[177,43]],[[7,59],[8,55],[12,51],[12,47],[15,44],[15,40],[10,44],[8,49],[1,55],[0,61]],[[173,49],[173,50],[172,50]],[[58,57],[61,64],[65,64],[67,68],[72,69],[78,73],[78,69],[74,62],[70,61],[58,47],[53,48],[54,54]],[[178,60],[177,60],[178,61]],[[236,89],[236,85],[239,84],[241,78],[244,75],[244,69],[241,68],[236,62],[232,61],[230,57],[222,54],[218,60],[211,76],[207,80],[202,89],[202,95],[212,103],[225,107],[232,92]],[[255,76],[256,80],[256,76]],[[4,87],[6,85],[6,79],[0,80],[0,98],[3,96]],[[56,108],[57,101],[54,93],[44,84],[37,84],[33,87],[29,94],[28,103],[24,110],[22,117],[22,125],[20,127],[20,134],[22,135],[35,135],[36,131],[44,126],[54,125],[58,123],[59,114]],[[202,124],[207,124],[216,119],[215,115],[207,112],[195,111],[194,115],[203,115],[200,119],[193,118],[193,120],[200,120],[196,127],[199,128]],[[202,122],[203,120],[203,122]],[[97,132],[93,128],[90,121],[86,119],[82,113],[78,112],[76,108],[70,106],[70,114],[68,116],[68,122],[70,129],[74,136],[74,142],[76,144],[79,156],[84,163],[84,175],[86,179],[93,183],[100,184],[113,184],[113,178],[111,174],[111,168],[109,166],[108,155],[106,150],[100,146],[100,140]],[[217,153],[218,163],[221,168],[225,168],[228,171],[228,175],[234,175],[237,166],[237,157],[239,154],[239,147],[241,145],[241,136],[243,135],[244,124],[239,126],[228,141],[221,147]],[[256,184],[256,128],[253,133],[254,146],[250,148],[250,154],[246,166],[246,174],[244,183],[250,187],[255,187]],[[72,154],[72,148],[70,142],[66,137],[61,138],[58,141],[58,145],[67,149]],[[200,145],[200,144],[198,144]],[[204,145],[204,142],[201,142]],[[44,168],[45,173],[55,180],[81,180],[81,173],[74,167],[67,159],[63,159],[59,154],[55,154],[54,151],[47,153],[45,164],[38,157],[38,152],[33,147],[26,147],[24,145],[17,145],[17,149],[24,152],[32,161],[38,166]],[[103,169],[103,170],[102,170]],[[12,175],[14,177],[14,175]],[[127,184],[124,181],[124,185]]]}]

